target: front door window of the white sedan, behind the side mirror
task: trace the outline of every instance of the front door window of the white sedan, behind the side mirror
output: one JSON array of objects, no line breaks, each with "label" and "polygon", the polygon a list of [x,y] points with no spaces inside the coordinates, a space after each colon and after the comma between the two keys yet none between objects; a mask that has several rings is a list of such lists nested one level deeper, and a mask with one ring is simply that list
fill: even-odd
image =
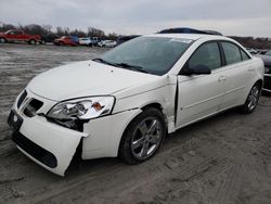
[{"label": "front door window of the white sedan, behind the side mirror", "polygon": [[210,69],[221,66],[219,47],[217,42],[202,44],[191,56],[189,67],[205,65]]}]

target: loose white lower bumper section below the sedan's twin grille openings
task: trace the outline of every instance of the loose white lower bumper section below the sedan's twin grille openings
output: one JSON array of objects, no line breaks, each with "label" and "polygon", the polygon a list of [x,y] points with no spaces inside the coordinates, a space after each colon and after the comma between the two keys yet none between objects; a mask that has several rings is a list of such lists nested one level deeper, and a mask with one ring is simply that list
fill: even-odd
[{"label": "loose white lower bumper section below the sedan's twin grille openings", "polygon": [[[23,118],[12,136],[17,148],[42,167],[64,176],[81,138],[88,135],[49,123],[42,116],[17,116]],[[16,117],[10,119],[16,120]]]}]

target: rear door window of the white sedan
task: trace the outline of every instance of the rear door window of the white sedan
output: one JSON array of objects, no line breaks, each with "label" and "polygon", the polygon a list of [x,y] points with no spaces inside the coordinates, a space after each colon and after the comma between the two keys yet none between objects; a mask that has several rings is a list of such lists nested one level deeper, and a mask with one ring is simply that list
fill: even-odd
[{"label": "rear door window of the white sedan", "polygon": [[242,61],[240,48],[231,42],[221,42],[221,44],[224,50],[227,64],[233,64]]}]

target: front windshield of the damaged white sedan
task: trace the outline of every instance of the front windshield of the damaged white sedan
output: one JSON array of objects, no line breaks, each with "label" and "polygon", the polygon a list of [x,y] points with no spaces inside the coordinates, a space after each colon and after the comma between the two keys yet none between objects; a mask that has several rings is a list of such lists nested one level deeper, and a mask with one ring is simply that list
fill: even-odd
[{"label": "front windshield of the damaged white sedan", "polygon": [[99,62],[164,75],[192,42],[190,39],[180,38],[139,37],[108,51]]}]

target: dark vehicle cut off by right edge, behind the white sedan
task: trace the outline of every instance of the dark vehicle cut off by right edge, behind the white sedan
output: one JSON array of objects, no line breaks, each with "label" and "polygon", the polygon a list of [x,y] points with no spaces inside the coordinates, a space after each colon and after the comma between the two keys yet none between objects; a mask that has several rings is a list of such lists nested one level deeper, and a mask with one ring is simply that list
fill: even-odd
[{"label": "dark vehicle cut off by right edge, behind the white sedan", "polygon": [[271,50],[269,50],[264,55],[257,55],[262,59],[264,63],[264,84],[263,91],[271,93]]}]

